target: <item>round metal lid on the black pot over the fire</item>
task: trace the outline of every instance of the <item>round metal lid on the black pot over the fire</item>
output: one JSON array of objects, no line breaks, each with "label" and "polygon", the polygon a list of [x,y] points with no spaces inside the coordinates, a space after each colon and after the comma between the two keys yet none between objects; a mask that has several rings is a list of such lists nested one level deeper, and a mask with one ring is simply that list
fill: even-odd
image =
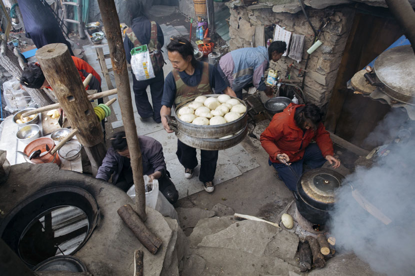
[{"label": "round metal lid on the black pot over the fire", "polygon": [[314,169],[305,172],[301,176],[300,188],[302,188],[305,196],[315,202],[333,204],[335,192],[340,187],[343,179],[344,177],[341,174],[333,170]]}]

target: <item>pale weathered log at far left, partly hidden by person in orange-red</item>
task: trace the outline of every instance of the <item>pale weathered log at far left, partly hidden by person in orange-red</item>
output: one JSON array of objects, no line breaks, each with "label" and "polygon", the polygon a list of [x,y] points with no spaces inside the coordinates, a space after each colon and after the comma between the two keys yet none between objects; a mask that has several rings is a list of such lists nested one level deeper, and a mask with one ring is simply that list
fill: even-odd
[{"label": "pale weathered log at far left, partly hidden by person in orange-red", "polygon": [[[13,51],[7,47],[4,40],[1,41],[0,46],[0,65],[3,66],[3,68],[6,69],[7,72],[9,72],[14,78],[20,79],[22,69],[17,61],[17,57],[14,55]],[[23,89],[39,106],[54,103],[43,90],[27,88],[24,86]]]}]

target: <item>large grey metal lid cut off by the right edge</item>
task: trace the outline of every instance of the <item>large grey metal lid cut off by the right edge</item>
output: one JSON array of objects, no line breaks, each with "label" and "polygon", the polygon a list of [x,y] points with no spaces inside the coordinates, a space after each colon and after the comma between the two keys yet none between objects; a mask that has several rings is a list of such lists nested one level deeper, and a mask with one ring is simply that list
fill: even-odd
[{"label": "large grey metal lid cut off by the right edge", "polygon": [[374,71],[385,85],[385,94],[399,102],[415,104],[415,54],[410,45],[381,53],[374,61]]}]

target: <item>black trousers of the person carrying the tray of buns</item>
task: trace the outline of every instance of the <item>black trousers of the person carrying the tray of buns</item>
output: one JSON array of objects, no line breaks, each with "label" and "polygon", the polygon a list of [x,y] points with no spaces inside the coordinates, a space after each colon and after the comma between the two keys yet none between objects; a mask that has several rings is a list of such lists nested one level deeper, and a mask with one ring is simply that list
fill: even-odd
[{"label": "black trousers of the person carrying the tray of buns", "polygon": [[[177,140],[176,155],[184,168],[194,169],[197,166],[196,149],[189,147]],[[200,174],[201,182],[212,181],[216,172],[217,150],[200,150]]]}]

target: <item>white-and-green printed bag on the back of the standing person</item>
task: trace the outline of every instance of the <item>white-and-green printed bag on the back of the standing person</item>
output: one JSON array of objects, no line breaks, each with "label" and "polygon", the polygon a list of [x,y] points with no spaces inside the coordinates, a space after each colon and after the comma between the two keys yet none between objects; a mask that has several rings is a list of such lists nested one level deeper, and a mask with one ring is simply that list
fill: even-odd
[{"label": "white-and-green printed bag on the back of the standing person", "polygon": [[154,70],[151,63],[151,57],[147,45],[132,48],[131,51],[131,69],[135,79],[147,80],[153,78]]}]

